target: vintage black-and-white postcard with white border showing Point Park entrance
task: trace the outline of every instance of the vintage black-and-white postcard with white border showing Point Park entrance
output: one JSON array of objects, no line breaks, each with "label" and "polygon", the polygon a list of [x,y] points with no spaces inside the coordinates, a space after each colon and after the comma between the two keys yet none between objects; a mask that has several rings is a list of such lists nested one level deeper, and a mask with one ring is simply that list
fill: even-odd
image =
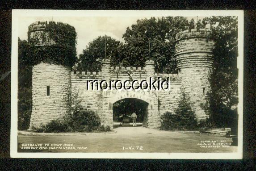
[{"label": "vintage black-and-white postcard with white border showing Point Park entrance", "polygon": [[243,11],[12,14],[11,157],[242,158]]}]

